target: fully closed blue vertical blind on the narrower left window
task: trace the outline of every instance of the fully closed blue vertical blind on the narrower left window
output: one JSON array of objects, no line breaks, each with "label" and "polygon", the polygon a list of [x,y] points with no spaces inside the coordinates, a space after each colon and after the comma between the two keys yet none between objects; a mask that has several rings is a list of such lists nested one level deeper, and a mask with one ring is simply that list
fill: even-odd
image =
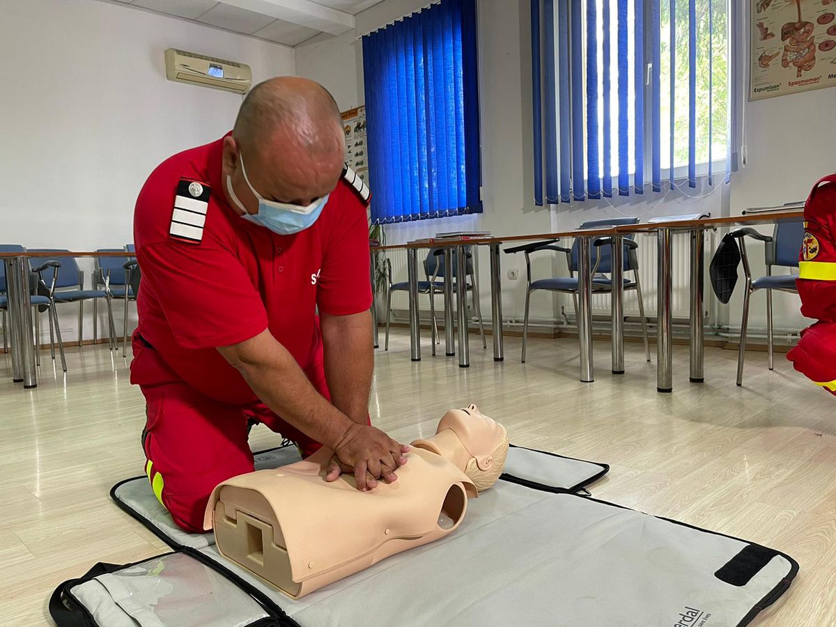
[{"label": "fully closed blue vertical blind on the narrower left window", "polygon": [[372,221],[481,213],[476,0],[363,38]]}]

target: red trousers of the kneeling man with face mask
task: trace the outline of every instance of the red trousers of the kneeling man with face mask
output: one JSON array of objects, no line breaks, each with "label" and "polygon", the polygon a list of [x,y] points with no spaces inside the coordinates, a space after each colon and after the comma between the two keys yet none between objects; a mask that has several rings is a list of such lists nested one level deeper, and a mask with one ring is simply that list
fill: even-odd
[{"label": "red trousers of the kneeling man with face mask", "polygon": [[[324,372],[314,387],[328,398]],[[140,385],[147,404],[142,446],[145,474],[163,507],[181,528],[203,533],[206,502],[218,483],[252,472],[247,422],[262,422],[297,443],[304,456],[321,446],[263,403],[226,405],[185,383]]]}]

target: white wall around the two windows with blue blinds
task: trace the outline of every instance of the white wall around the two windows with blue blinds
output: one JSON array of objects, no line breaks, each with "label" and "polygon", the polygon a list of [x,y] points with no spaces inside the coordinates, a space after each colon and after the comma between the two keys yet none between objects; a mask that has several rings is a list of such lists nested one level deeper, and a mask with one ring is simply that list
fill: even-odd
[{"label": "white wall around the two windows with blue blinds", "polygon": [[[414,11],[421,0],[385,0],[357,16],[357,28],[340,38],[317,38],[296,48],[298,73],[317,79],[336,95],[342,109],[364,101],[361,44],[357,34],[366,33]],[[711,212],[712,216],[739,214],[748,206],[777,205],[806,198],[819,176],[836,171],[836,90],[822,89],[805,94],[745,103],[747,166],[737,172],[731,186],[718,184],[710,189],[689,190],[660,195],[631,196],[608,201],[589,201],[548,208],[533,206],[533,159],[531,141],[531,41],[528,27],[529,3],[523,0],[480,0],[478,27],[480,44],[480,82],[482,115],[482,177],[485,187],[484,214],[476,217],[445,218],[441,221],[410,222],[386,227],[390,243],[427,237],[437,231],[458,228],[487,229],[494,234],[561,231],[581,222],[623,215],[649,217],[691,212]],[[797,120],[817,120],[799,124]],[[771,232],[771,227],[762,227]],[[719,241],[717,239],[716,241]],[[654,245],[647,238],[644,245]],[[765,273],[762,247],[752,242],[752,271]],[[713,250],[706,250],[706,266]],[[687,254],[682,250],[681,254]],[[515,258],[517,257],[517,258]],[[483,270],[487,252],[482,252]],[[503,277],[503,313],[519,317],[523,312],[523,258],[502,256],[503,274],[519,268],[521,279]],[[554,269],[559,271],[562,262]],[[548,263],[535,267],[537,276],[548,276]],[[742,273],[742,270],[741,270]],[[485,275],[483,275],[485,276]],[[707,278],[706,278],[707,280]],[[680,286],[686,290],[686,285]],[[711,289],[706,284],[706,294]],[[719,323],[740,324],[741,292],[729,307],[714,305]],[[649,298],[648,298],[649,297]],[[655,286],[645,285],[645,298],[655,300]],[[489,312],[489,296],[483,290],[484,312]],[[765,327],[763,296],[754,297],[751,324]],[[568,303],[560,298],[548,302],[542,295],[533,300],[533,317],[550,319],[558,314],[555,305]],[[800,329],[808,324],[798,313],[798,297],[775,296],[777,328]]]}]

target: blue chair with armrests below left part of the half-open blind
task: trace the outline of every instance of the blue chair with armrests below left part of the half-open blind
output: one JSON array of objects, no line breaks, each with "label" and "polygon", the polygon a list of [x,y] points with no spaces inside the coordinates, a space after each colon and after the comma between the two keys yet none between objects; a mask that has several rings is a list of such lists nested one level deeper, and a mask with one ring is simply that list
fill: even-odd
[{"label": "blue chair with armrests below left part of the half-open blind", "polygon": [[[609,227],[622,226],[626,224],[637,224],[638,217],[619,217],[608,218],[606,220],[590,220],[580,225],[580,228],[595,228],[595,227]],[[575,319],[578,319],[578,292],[579,292],[579,278],[575,277],[579,267],[579,250],[580,241],[575,238],[572,247],[566,248],[558,246],[554,243],[556,240],[548,240],[547,242],[534,242],[523,246],[507,248],[505,252],[508,253],[525,253],[526,265],[526,282],[527,289],[525,294],[525,318],[523,319],[523,354],[521,360],[525,363],[526,347],[528,345],[528,311],[531,294],[538,290],[546,290],[548,292],[559,292],[572,294]],[[650,361],[650,344],[647,339],[647,319],[645,319],[645,302],[641,297],[641,281],[639,278],[639,256],[636,254],[636,249],[639,247],[634,241],[634,236],[624,236],[624,272],[632,271],[633,280],[624,278],[624,291],[635,290],[639,297],[639,315],[641,317],[641,330],[645,340],[645,358]],[[599,237],[594,242],[594,246],[590,247],[590,268],[592,268],[592,289],[594,292],[611,292],[612,279],[605,276],[612,272],[612,249],[609,245],[609,237]],[[540,251],[555,251],[566,254],[569,268],[568,277],[554,277],[541,278],[537,281],[532,281],[531,276],[531,255],[534,252]]]}]

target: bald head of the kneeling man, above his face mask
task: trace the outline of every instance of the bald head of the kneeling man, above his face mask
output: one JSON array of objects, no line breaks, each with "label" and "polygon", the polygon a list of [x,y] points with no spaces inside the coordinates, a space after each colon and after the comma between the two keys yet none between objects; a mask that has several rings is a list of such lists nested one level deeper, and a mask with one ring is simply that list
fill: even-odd
[{"label": "bald head of the kneeling man, above his face mask", "polygon": [[334,189],[344,155],[334,97],[313,80],[279,76],[247,94],[225,142],[223,166],[233,183],[240,183],[243,158],[247,178],[261,196],[308,204]]}]

